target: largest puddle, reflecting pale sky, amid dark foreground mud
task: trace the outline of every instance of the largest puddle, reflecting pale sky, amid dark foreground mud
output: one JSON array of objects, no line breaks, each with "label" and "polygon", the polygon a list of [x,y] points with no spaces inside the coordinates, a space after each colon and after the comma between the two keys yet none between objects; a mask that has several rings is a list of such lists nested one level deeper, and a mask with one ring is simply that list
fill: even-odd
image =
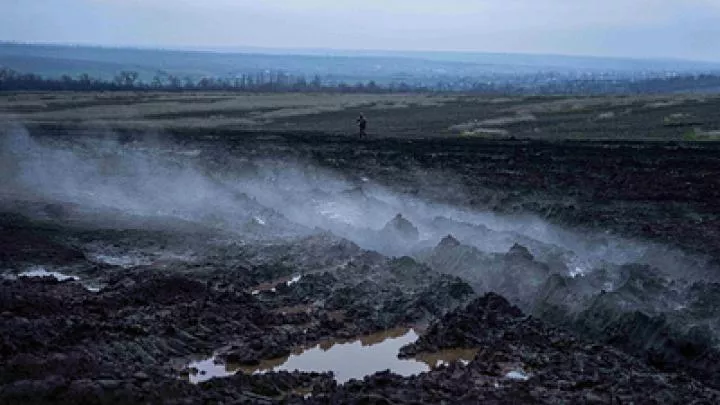
[{"label": "largest puddle, reflecting pale sky, amid dark foreground mud", "polygon": [[402,346],[417,340],[412,329],[392,329],[387,332],[363,336],[352,341],[326,341],[312,348],[298,350],[288,357],[263,361],[257,366],[216,364],[216,358],[192,362],[190,382],[197,384],[214,377],[227,377],[240,371],[247,374],[268,371],[306,371],[335,373],[339,383],[353,378],[361,379],[378,371],[389,369],[393,373],[410,376],[455,361],[470,361],[476,350],[447,350],[426,354],[413,359],[398,359]]}]

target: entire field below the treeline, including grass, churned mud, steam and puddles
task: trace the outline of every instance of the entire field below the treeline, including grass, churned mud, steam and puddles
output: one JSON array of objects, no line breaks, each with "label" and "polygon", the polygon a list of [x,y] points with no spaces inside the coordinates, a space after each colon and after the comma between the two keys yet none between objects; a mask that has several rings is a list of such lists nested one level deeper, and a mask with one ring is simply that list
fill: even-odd
[{"label": "entire field below the treeline, including grass, churned mud, steam and puddles", "polygon": [[720,402],[720,99],[243,97],[2,96],[0,403]]}]

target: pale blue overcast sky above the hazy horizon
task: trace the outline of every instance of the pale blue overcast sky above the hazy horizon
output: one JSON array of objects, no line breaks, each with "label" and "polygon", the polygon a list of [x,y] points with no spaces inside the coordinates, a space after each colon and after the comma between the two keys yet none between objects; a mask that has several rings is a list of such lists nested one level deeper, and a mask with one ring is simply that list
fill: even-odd
[{"label": "pale blue overcast sky above the hazy horizon", "polygon": [[0,40],[720,61],[720,0],[0,0]]}]

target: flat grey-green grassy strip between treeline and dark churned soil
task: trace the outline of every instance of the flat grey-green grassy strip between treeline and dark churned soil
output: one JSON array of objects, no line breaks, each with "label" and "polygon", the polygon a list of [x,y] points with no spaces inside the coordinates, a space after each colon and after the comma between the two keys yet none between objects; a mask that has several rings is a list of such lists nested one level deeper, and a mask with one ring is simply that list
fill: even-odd
[{"label": "flat grey-green grassy strip between treeline and dark churned soil", "polygon": [[374,137],[715,140],[720,96],[474,97],[420,94],[21,93],[0,116],[30,126],[293,130]]}]

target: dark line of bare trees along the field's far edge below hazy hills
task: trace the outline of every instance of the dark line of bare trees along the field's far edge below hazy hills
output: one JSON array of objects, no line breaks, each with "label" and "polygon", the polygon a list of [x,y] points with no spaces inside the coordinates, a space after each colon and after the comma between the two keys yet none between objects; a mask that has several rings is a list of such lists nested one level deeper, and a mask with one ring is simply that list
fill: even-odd
[{"label": "dark line of bare trees along the field's far edge below hazy hills", "polygon": [[0,91],[235,91],[235,92],[338,92],[338,93],[412,93],[463,92],[503,95],[560,94],[653,94],[672,92],[720,92],[720,75],[676,75],[647,79],[607,79],[603,77],[567,78],[552,74],[514,78],[513,80],[478,80],[452,78],[433,83],[403,81],[378,84],[375,81],[352,84],[323,80],[283,72],[256,72],[231,78],[179,77],[159,72],[150,82],[140,80],[134,71],[122,71],[112,80],[81,74],[59,78],[43,77],[0,68]]}]

